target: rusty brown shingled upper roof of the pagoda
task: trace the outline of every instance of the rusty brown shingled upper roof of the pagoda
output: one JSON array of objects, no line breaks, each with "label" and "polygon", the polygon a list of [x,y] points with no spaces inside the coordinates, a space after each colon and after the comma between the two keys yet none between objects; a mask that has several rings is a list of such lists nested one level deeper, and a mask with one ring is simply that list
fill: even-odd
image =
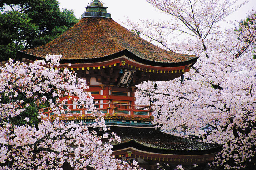
[{"label": "rusty brown shingled upper roof of the pagoda", "polygon": [[[23,53],[44,58],[63,55],[64,60],[108,60],[107,57],[128,51],[142,61],[157,63],[195,62],[197,56],[163,50],[133,34],[111,18],[85,17],[63,35],[46,45]],[[193,63],[191,62],[191,63]]]}]

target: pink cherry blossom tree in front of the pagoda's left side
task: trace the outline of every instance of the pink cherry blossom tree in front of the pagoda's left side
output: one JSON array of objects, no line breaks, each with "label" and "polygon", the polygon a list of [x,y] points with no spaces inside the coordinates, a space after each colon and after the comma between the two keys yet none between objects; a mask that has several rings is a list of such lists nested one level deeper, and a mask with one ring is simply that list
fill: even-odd
[{"label": "pink cherry blossom tree in front of the pagoda's left side", "polygon": [[[130,163],[131,167],[115,159],[112,146],[99,140],[120,140],[114,133],[104,132],[101,137],[93,128],[59,121],[66,102],[59,98],[76,96],[81,106],[97,116],[91,126],[107,131],[101,113],[93,105],[93,97],[85,91],[86,81],[67,68],[57,68],[60,57],[48,55],[46,61],[29,65],[10,59],[0,68],[0,169],[62,169],[67,164],[72,169],[138,169],[136,162]],[[52,122],[44,119],[45,104],[56,117]],[[31,117],[22,114],[31,105],[38,113],[36,118],[41,119],[37,125],[30,124]],[[15,123],[17,119],[23,123]]]}]

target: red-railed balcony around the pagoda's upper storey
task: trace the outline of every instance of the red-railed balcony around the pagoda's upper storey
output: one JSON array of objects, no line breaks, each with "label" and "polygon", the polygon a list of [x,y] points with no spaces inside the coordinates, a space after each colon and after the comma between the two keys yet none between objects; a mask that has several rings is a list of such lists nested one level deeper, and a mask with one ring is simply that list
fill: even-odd
[{"label": "red-railed balcony around the pagoda's upper storey", "polygon": [[[118,103],[97,103],[94,105],[106,105],[104,108],[98,108],[98,111],[103,113],[106,123],[117,124],[151,124],[154,117],[151,115],[152,105],[130,105],[130,104],[118,104]],[[96,117],[93,117],[91,111],[80,108],[79,104],[65,104],[65,108],[69,108],[69,111],[65,111],[64,114],[59,116],[59,119],[69,123],[75,121],[75,123],[93,123]],[[124,107],[124,108],[118,108]],[[142,107],[142,109],[134,109],[135,107]],[[148,109],[148,110],[145,110]],[[45,120],[54,120],[57,115],[54,115],[52,110],[48,107],[44,109],[44,115],[47,115]]]}]

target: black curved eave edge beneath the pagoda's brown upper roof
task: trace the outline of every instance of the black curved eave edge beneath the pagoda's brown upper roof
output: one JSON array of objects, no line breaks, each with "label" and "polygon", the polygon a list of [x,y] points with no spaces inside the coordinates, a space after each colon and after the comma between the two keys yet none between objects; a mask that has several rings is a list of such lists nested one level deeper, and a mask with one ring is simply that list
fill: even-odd
[{"label": "black curved eave edge beneath the pagoda's brown upper roof", "polygon": [[[130,51],[128,51],[127,49],[120,51],[118,53],[112,54],[112,55],[108,55],[105,57],[99,57],[99,58],[91,58],[91,59],[61,59],[60,63],[64,64],[64,63],[71,63],[71,64],[78,64],[78,63],[96,63],[99,62],[99,60],[101,62],[103,61],[109,61],[121,56],[127,56],[128,58],[139,62],[139,63],[147,63],[147,65],[151,65],[151,66],[160,66],[160,67],[181,67],[181,66],[186,66],[186,65],[193,65],[197,59],[198,56],[196,56],[195,58],[192,58],[190,60],[184,61],[184,62],[177,62],[177,63],[166,63],[166,62],[155,62],[155,61],[150,61],[150,60],[146,60],[146,59],[142,59],[140,57],[137,57],[135,54],[131,53]],[[34,55],[30,55],[30,54],[26,54],[23,53],[22,51],[17,51],[17,57],[16,60],[20,60],[21,58],[25,58],[25,59],[29,59],[29,60],[36,60],[36,59],[42,59],[45,60],[45,58],[43,57],[38,57],[38,56],[34,56]]]}]

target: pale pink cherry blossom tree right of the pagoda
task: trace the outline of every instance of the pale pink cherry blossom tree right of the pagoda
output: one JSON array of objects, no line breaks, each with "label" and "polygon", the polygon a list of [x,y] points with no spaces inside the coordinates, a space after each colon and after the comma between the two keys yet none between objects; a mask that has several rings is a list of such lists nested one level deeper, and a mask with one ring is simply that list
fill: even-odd
[{"label": "pale pink cherry blossom tree right of the pagoda", "polygon": [[235,6],[237,0],[147,1],[170,21],[144,20],[140,26],[128,20],[133,30],[162,48],[199,59],[184,78],[138,85],[137,104],[154,103],[154,124],[170,134],[223,144],[213,168],[253,169],[256,12],[249,12],[249,24],[224,30],[226,16],[243,5]]}]

